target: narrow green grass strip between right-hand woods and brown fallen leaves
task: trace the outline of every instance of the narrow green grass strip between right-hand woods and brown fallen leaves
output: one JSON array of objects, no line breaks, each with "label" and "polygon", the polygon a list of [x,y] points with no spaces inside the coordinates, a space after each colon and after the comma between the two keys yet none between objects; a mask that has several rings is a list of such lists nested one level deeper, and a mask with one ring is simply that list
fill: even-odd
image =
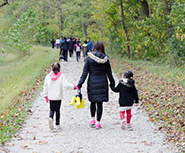
[{"label": "narrow green grass strip between right-hand woods and brown fallen leaves", "polygon": [[[161,77],[166,81],[175,82],[180,84],[185,89],[185,65],[181,68],[171,68],[167,65],[157,65],[149,61],[142,60],[129,60],[128,58],[121,57],[120,55],[110,55],[120,61],[124,61],[128,64],[132,64],[135,67],[147,70],[149,73]],[[125,69],[125,68],[124,68]],[[123,71],[122,71],[123,72]]]}]

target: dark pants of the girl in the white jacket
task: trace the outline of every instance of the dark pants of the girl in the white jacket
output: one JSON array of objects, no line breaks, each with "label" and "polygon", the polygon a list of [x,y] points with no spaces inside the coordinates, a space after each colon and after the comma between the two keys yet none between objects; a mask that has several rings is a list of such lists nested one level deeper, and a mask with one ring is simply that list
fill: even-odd
[{"label": "dark pants of the girl in the white jacket", "polygon": [[61,100],[50,100],[49,103],[50,103],[49,118],[53,119],[54,113],[56,113],[56,125],[59,125]]}]

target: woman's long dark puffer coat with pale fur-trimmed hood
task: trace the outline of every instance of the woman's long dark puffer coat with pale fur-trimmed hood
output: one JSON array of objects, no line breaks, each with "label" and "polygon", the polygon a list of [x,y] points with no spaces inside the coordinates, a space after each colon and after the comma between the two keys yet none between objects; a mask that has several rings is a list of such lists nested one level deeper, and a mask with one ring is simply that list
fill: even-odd
[{"label": "woman's long dark puffer coat with pale fur-trimmed hood", "polygon": [[107,102],[109,100],[107,78],[112,85],[115,84],[108,56],[99,51],[88,53],[83,73],[77,85],[79,89],[82,87],[88,74],[87,91],[89,101]]}]

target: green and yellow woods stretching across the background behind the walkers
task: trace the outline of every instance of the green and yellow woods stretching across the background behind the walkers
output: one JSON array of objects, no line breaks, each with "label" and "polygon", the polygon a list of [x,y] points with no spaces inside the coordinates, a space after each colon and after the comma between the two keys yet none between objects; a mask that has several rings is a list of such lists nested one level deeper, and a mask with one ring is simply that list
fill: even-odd
[{"label": "green and yellow woods stretching across the background behind the walkers", "polygon": [[[48,45],[52,37],[74,36],[102,40],[107,50],[132,59],[171,66],[182,66],[185,61],[183,0],[16,0],[4,3],[10,5],[0,10],[4,25],[8,25],[1,25],[2,37],[9,38],[11,29],[20,19],[30,19],[28,15],[23,16],[28,10],[35,13],[32,22],[28,21],[35,31],[28,34],[24,31],[27,25],[21,25],[27,46],[17,44],[22,38],[17,38],[14,44],[7,41],[8,38],[2,39],[3,52],[13,50],[4,49],[9,43],[21,45],[22,48],[16,48],[26,51],[33,44]],[[14,31],[14,34],[20,33]]]}]

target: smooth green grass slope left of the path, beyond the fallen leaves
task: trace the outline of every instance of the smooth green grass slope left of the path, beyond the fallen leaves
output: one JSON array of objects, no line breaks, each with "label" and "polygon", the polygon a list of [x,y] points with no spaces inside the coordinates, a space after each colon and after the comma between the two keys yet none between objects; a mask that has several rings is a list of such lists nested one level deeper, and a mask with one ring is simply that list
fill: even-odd
[{"label": "smooth green grass slope left of the path, beyond the fallen leaves", "polygon": [[31,49],[30,56],[1,55],[0,112],[6,112],[13,98],[32,87],[41,70],[57,56],[58,51],[39,46]]}]

